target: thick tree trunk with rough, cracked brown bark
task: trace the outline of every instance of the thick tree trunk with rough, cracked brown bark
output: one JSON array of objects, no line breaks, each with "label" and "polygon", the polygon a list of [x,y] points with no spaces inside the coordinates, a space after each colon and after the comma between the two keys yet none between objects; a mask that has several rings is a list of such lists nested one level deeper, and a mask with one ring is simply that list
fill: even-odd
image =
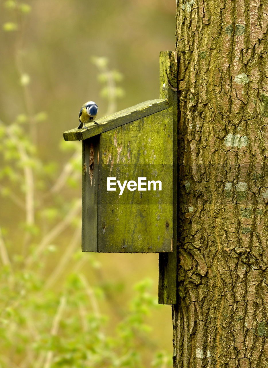
[{"label": "thick tree trunk with rough, cracked brown bark", "polygon": [[267,13],[177,3],[174,367],[268,367]]}]

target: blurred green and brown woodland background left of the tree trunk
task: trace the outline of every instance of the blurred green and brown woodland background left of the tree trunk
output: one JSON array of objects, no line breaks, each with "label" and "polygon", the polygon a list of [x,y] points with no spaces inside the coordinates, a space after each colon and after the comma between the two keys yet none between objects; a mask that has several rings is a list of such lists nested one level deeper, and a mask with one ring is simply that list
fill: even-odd
[{"label": "blurred green and brown woodland background left of the tree trunk", "polygon": [[159,97],[174,0],[1,1],[0,366],[172,367],[157,254],[80,251],[82,104]]}]

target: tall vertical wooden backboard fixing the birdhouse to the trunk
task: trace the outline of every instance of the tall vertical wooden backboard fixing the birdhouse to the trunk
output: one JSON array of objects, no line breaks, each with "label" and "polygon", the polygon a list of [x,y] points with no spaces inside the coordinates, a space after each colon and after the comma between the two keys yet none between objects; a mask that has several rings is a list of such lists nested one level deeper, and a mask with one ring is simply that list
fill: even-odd
[{"label": "tall vertical wooden backboard fixing the birdhouse to the trunk", "polygon": [[173,251],[159,253],[159,304],[176,304],[177,300],[177,70],[176,52],[160,52],[160,98],[169,100],[173,115]]}]

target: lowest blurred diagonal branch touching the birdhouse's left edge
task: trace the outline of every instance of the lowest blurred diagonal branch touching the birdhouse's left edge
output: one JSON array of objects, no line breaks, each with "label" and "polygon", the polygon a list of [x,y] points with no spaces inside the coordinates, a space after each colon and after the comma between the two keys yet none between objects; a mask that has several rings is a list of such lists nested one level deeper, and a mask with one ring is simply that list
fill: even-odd
[{"label": "lowest blurred diagonal branch touching the birdhouse's left edge", "polygon": [[48,278],[46,284],[44,285],[45,289],[49,289],[57,281],[58,277],[64,271],[64,268],[67,265],[69,259],[72,257],[72,254],[76,248],[77,242],[80,239],[80,237],[81,237],[81,229],[80,227],[77,227],[75,229],[75,233],[73,234],[67,249],[64,252],[64,255],[61,256],[59,263],[51,272],[50,277]]}]

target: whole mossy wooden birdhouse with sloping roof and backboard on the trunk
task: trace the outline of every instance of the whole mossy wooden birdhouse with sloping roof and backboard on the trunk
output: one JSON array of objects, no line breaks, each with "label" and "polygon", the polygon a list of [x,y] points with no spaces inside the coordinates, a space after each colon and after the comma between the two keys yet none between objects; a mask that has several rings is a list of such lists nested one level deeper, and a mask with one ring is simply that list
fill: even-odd
[{"label": "whole mossy wooden birdhouse with sloping roof and backboard on the trunk", "polygon": [[159,99],[97,123],[64,133],[82,141],[82,250],[163,253],[164,270],[177,241],[175,52],[160,53]]}]

